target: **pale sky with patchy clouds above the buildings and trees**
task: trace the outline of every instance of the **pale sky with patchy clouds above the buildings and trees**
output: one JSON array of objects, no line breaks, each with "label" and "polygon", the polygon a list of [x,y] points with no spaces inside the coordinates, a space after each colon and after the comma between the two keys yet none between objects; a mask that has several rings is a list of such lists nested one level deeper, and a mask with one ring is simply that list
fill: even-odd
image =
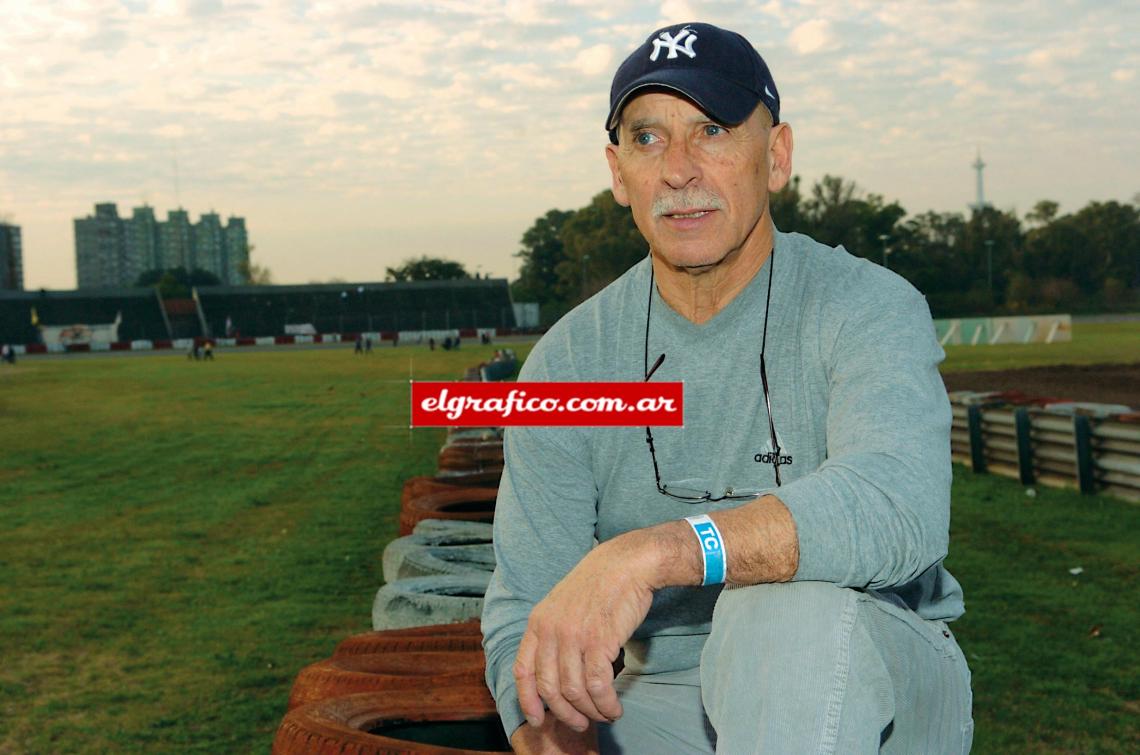
[{"label": "pale sky with patchy clouds above the buildings and trees", "polygon": [[514,278],[523,232],[610,185],[603,121],[654,29],[741,32],[795,172],[911,214],[1140,192],[1140,5],[826,0],[0,0],[0,218],[26,289],[75,286],[72,220],[244,217],[276,283],[422,254]]}]

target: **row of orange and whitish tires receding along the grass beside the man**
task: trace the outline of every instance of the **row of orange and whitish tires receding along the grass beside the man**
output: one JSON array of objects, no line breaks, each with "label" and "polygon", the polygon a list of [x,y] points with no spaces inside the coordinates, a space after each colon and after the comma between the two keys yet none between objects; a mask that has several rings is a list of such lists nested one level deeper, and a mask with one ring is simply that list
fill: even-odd
[{"label": "row of orange and whitish tires receding along the grass beside the man", "polygon": [[405,481],[373,632],[298,674],[274,755],[510,752],[479,630],[502,472],[502,429],[463,428],[438,474]]}]

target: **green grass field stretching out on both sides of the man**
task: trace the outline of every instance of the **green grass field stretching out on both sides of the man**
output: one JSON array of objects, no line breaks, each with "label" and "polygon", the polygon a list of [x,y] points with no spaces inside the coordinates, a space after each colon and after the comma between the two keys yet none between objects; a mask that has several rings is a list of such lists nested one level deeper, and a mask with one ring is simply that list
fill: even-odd
[{"label": "green grass field stretching out on both sides of the man", "polygon": [[[368,628],[399,488],[433,470],[410,364],[489,351],[0,368],[0,753],[267,752],[296,672]],[[1135,752],[1140,506],[955,473],[975,752]]]}]

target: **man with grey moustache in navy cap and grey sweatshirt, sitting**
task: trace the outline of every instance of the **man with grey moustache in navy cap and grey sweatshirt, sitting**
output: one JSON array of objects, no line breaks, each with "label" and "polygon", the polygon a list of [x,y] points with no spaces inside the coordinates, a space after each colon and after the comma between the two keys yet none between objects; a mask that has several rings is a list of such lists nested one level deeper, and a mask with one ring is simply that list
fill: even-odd
[{"label": "man with grey moustache in navy cap and grey sweatshirt, sitting", "polygon": [[513,746],[968,752],[926,301],[775,229],[792,135],[741,35],[654,32],[610,104],[613,195],[651,254],[520,380],[684,381],[685,424],[507,431],[483,633]]}]

